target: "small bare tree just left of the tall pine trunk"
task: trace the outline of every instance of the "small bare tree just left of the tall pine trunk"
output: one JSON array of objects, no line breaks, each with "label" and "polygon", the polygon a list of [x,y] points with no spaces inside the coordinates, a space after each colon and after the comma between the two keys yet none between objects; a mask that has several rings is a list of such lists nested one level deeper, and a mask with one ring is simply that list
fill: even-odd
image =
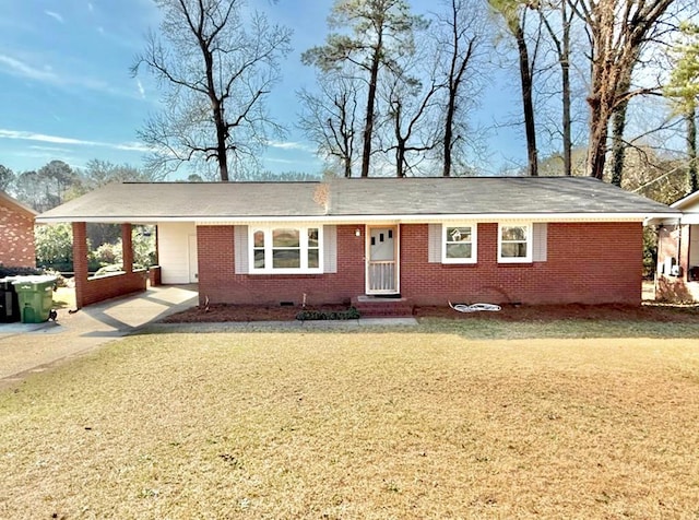
[{"label": "small bare tree just left of the tall pine trunk", "polygon": [[339,162],[342,175],[352,177],[359,85],[339,73],[320,75],[317,86],[318,94],[298,93],[304,107],[299,127],[318,145],[320,155]]}]

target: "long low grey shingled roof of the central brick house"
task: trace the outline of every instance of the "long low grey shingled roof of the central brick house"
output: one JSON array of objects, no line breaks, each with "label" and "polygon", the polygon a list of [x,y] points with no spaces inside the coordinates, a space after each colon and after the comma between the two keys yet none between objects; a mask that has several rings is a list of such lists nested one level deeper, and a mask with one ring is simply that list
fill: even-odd
[{"label": "long low grey shingled roof of the central brick house", "polygon": [[112,184],[43,213],[37,222],[417,222],[552,215],[644,220],[677,214],[677,210],[590,177],[435,177]]}]

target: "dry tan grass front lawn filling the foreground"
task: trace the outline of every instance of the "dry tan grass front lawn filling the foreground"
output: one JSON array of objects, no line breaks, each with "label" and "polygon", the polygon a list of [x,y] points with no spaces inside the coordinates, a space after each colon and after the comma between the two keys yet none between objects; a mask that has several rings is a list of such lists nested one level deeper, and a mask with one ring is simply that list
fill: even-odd
[{"label": "dry tan grass front lawn filling the foreground", "polygon": [[0,391],[0,518],[699,516],[696,340],[454,332],[115,342]]}]

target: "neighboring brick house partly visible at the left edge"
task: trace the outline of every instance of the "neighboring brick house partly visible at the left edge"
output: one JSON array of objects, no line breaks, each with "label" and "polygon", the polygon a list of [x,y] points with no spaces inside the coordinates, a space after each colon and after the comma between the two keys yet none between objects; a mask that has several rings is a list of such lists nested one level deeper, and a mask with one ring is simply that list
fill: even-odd
[{"label": "neighboring brick house partly visible at the left edge", "polygon": [[36,212],[0,190],[0,264],[36,268]]}]

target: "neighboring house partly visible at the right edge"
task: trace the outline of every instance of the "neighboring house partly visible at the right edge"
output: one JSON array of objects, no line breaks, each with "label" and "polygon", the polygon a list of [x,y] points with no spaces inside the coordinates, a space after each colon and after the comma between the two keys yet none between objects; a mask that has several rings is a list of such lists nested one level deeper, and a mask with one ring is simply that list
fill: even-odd
[{"label": "neighboring house partly visible at the right edge", "polygon": [[659,226],[655,297],[665,302],[698,302],[699,191],[671,208],[682,214],[661,221]]}]

